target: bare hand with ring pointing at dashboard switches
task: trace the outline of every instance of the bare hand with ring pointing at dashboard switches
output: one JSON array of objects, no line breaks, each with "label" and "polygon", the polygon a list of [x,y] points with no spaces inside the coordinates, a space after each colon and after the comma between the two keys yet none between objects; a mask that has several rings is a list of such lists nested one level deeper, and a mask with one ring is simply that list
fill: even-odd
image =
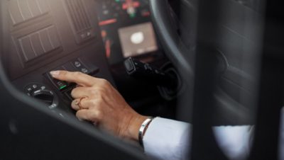
[{"label": "bare hand with ring pointing at dashboard switches", "polygon": [[147,117],[136,113],[109,81],[81,72],[54,71],[55,79],[76,83],[72,108],[80,120],[88,120],[114,135],[138,140],[138,130]]}]

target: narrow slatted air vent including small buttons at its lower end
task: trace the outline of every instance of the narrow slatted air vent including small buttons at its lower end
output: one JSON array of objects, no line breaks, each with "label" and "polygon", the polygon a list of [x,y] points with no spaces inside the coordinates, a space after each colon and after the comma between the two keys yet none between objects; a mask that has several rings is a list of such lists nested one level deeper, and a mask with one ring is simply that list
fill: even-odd
[{"label": "narrow slatted air vent including small buttons at its lower end", "polygon": [[82,0],[65,0],[65,4],[77,43],[94,38],[92,25]]}]

